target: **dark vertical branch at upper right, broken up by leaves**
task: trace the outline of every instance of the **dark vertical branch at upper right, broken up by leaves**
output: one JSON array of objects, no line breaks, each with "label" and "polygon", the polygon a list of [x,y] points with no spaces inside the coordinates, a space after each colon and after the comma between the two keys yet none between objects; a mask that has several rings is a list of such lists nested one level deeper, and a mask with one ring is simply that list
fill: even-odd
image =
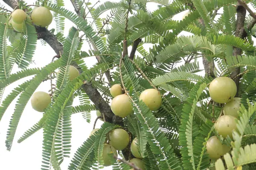
[{"label": "dark vertical branch at upper right, broken up by leaves", "polygon": [[[244,39],[247,34],[244,30],[244,22],[245,22],[245,16],[246,16],[246,9],[240,4],[237,3],[236,7],[237,12],[237,19],[236,19],[236,37],[240,37]],[[233,56],[240,56],[242,54],[242,51],[240,48],[233,47]],[[236,82],[236,97],[239,95],[239,81],[241,76],[237,76],[240,74],[240,67],[237,67],[232,71],[230,77]]]}]

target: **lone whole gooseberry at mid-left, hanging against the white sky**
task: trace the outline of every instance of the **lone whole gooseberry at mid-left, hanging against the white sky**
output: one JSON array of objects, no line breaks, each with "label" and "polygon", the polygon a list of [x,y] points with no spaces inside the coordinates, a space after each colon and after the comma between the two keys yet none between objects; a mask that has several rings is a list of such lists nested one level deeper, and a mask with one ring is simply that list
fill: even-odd
[{"label": "lone whole gooseberry at mid-left, hanging against the white sky", "polygon": [[38,112],[44,112],[51,101],[51,96],[44,91],[35,92],[31,97],[32,108]]}]

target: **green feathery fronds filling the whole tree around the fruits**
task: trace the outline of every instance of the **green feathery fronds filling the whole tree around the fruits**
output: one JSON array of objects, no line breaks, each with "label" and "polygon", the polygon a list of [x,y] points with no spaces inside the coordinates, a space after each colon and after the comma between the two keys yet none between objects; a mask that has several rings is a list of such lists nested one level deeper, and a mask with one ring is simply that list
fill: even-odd
[{"label": "green feathery fronds filling the whole tree around the fruits", "polygon": [[[133,113],[114,125],[117,119],[112,117],[110,107],[106,108],[108,113],[103,116],[107,122],[76,150],[68,170],[104,168],[103,147],[109,140],[108,133],[115,128],[127,130],[131,141],[137,138],[137,148],[146,170],[206,170],[214,165],[218,170],[255,169],[256,48],[253,41],[256,28],[250,27],[253,17],[246,17],[241,27],[246,37],[236,35],[237,22],[242,23],[236,21],[239,10],[234,4],[237,0],[131,0],[131,5],[129,0],[104,3],[73,0],[72,4],[79,9],[75,12],[66,9],[64,0],[40,0],[37,5],[54,12],[56,26],[47,34],[56,39],[51,37],[50,40],[37,32],[44,32],[44,28],[33,26],[29,17],[32,9],[18,2],[17,7],[28,9],[22,33],[13,31],[8,24],[10,14],[4,13],[9,11],[4,6],[0,10],[0,120],[17,99],[6,136],[7,150],[11,150],[17,137],[20,118],[32,94],[42,82],[50,80],[48,87],[51,89],[46,91],[53,92],[52,102],[41,119],[17,142],[43,129],[41,169],[61,170],[62,162],[71,153],[72,124],[76,123],[72,122],[73,114],[81,114],[85,122],[93,123],[91,114],[103,107],[102,102],[105,102],[104,107],[111,105],[110,87],[120,84],[129,96]],[[245,2],[251,2],[256,8],[255,0]],[[156,10],[149,12],[148,6],[152,4]],[[220,9],[223,9],[222,14]],[[188,10],[188,16],[177,20],[177,15]],[[67,35],[64,34],[65,20],[74,24],[68,28]],[[185,36],[185,32],[189,36]],[[54,47],[61,58],[43,68],[30,68],[36,57],[37,35],[43,37],[42,42]],[[135,49],[133,45],[138,38],[141,42],[134,59],[129,58],[130,54],[122,57],[126,48],[124,40],[130,52]],[[55,40],[61,44],[52,45]],[[241,49],[236,57],[233,56],[234,48]],[[99,63],[88,64],[92,57]],[[80,72],[71,81],[68,79],[70,65],[76,65]],[[209,69],[215,66],[211,70],[214,75],[204,75],[206,66]],[[12,70],[17,67],[18,71]],[[233,77],[238,67],[240,74]],[[52,85],[56,69],[60,73]],[[105,75],[110,75],[112,82],[108,82]],[[208,89],[213,78],[220,76],[240,78],[239,117],[233,136],[227,138],[219,135],[214,126],[223,115],[224,104],[212,102]],[[18,85],[5,96],[5,89],[17,81]],[[157,89],[162,96],[157,111],[151,111],[140,100],[140,94],[148,88]],[[101,95],[104,101],[92,103],[90,99],[95,95]],[[208,139],[214,135],[231,147],[224,158],[216,161],[209,158],[206,148]],[[120,159],[132,158],[129,147],[119,151]],[[129,164],[113,159],[113,153],[109,158],[113,170],[131,169]]]}]

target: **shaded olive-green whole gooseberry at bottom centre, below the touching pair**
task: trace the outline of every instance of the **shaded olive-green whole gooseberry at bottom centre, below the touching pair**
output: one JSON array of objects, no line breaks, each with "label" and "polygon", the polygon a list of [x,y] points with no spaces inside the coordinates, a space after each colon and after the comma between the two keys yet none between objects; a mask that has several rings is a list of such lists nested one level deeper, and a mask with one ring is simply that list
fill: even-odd
[{"label": "shaded olive-green whole gooseberry at bottom centre, below the touching pair", "polygon": [[123,150],[130,142],[129,134],[123,129],[114,129],[108,133],[109,143],[117,150]]}]

